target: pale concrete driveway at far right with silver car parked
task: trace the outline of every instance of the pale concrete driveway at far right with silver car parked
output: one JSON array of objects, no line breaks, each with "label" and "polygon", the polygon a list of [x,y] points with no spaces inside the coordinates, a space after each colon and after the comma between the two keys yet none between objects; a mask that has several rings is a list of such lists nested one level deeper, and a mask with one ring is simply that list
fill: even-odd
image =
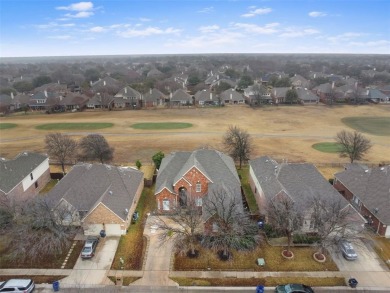
[{"label": "pale concrete driveway at far right with silver car parked", "polygon": [[346,260],[339,248],[332,250],[331,254],[334,262],[340,271],[351,272],[383,272],[388,271],[386,264],[376,254],[369,242],[364,240],[354,240],[352,243],[358,259],[354,261]]}]

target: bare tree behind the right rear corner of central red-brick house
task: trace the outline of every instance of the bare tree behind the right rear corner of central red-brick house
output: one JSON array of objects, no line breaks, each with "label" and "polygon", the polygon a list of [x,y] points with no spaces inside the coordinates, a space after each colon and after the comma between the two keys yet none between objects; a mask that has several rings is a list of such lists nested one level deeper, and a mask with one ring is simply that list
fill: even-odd
[{"label": "bare tree behind the right rear corner of central red-brick house", "polygon": [[245,130],[238,126],[229,126],[223,137],[223,145],[234,160],[239,160],[240,169],[243,162],[249,160],[252,150],[251,137]]}]

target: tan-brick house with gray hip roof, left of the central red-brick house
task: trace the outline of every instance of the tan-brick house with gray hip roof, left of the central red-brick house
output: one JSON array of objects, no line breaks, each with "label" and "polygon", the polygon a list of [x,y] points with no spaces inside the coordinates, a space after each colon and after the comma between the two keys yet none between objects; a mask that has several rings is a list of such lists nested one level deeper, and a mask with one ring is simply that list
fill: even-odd
[{"label": "tan-brick house with gray hip roof, left of the central red-brick house", "polygon": [[85,235],[124,235],[144,186],[142,172],[102,164],[78,164],[47,194],[53,210]]}]

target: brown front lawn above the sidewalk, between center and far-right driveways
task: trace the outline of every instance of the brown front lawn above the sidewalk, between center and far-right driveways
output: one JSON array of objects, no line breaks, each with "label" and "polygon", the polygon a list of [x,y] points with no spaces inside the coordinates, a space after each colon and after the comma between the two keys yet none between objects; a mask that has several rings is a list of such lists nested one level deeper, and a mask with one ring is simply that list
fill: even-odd
[{"label": "brown front lawn above the sidewalk, between center and far-right driveways", "polygon": [[[231,261],[220,261],[217,254],[203,247],[198,247],[200,256],[195,259],[176,255],[174,269],[178,271],[191,270],[237,270],[237,271],[338,271],[336,264],[328,257],[326,262],[319,263],[313,259],[315,250],[311,247],[293,247],[294,259],[282,257],[284,249],[281,246],[271,246],[263,243],[253,251],[232,251]],[[265,266],[257,265],[256,260],[264,258]]]}]

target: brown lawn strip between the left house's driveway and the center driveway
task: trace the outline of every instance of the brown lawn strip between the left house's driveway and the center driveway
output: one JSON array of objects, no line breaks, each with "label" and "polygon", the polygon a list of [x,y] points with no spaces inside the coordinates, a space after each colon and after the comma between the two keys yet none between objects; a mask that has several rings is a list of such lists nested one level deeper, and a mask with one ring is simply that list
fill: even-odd
[{"label": "brown lawn strip between the left house's driveway and the center driveway", "polygon": [[140,213],[137,223],[131,224],[126,235],[119,240],[118,249],[115,254],[111,268],[121,269],[120,258],[124,259],[125,270],[141,270],[146,249],[146,240],[143,237],[147,213],[156,209],[154,197],[154,185],[145,187],[137,205]]}]

